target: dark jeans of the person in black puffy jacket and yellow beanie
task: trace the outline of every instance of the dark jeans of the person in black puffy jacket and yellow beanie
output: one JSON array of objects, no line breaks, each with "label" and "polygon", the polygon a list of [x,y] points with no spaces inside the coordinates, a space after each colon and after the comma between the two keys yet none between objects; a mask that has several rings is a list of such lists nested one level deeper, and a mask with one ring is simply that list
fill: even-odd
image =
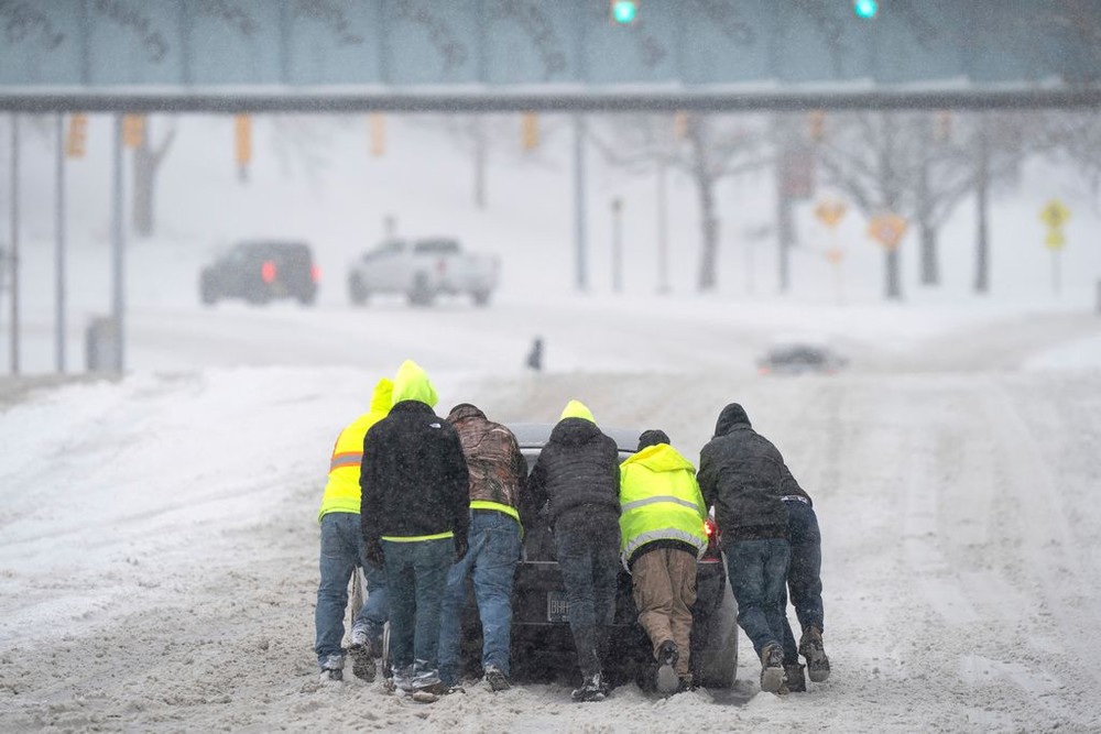
[{"label": "dark jeans of the person in black puffy jacket and yellow beanie", "polygon": [[577,649],[577,667],[588,678],[600,672],[608,655],[608,635],[615,620],[619,579],[619,518],[609,515],[604,528],[555,528],[558,568],[562,570],[569,629]]}]

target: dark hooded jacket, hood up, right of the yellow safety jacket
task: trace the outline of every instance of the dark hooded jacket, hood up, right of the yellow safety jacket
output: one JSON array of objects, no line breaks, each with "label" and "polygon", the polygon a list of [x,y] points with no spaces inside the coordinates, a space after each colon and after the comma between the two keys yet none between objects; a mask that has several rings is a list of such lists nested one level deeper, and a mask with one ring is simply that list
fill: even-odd
[{"label": "dark hooded jacket, hood up, right of the yellow safety jacket", "polygon": [[787,537],[784,458],[772,441],[753,430],[738,403],[722,408],[715,438],[699,453],[700,492],[715,505],[723,546],[733,540]]}]

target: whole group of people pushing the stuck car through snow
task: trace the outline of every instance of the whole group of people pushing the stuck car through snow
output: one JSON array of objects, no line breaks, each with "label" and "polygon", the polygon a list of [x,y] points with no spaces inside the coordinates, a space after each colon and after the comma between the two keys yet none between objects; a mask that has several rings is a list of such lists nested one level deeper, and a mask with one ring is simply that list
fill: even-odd
[{"label": "whole group of people pushing the stuck car through snow", "polygon": [[[711,506],[738,624],[761,660],[761,689],[805,691],[806,673],[816,682],[829,676],[814,506],[741,405],[720,413],[697,472],[658,429],[643,431],[636,452],[620,463],[592,413],[569,401],[528,473],[508,427],[468,403],[440,417],[428,375],[406,360],[393,380],[379,381],[370,409],[337,437],[318,513],[315,651],[323,681],[342,679],[348,582],[361,567],[368,594],[347,650],[358,678],[374,680],[389,621],[389,691],[430,702],[461,690],[460,621],[471,578],[484,681],[508,689],[523,525],[544,507],[581,672],[574,700],[609,693],[602,669],[621,565],[653,646],[654,687],[666,695],[693,687],[696,561]],[[788,591],[798,643],[787,621]]]}]

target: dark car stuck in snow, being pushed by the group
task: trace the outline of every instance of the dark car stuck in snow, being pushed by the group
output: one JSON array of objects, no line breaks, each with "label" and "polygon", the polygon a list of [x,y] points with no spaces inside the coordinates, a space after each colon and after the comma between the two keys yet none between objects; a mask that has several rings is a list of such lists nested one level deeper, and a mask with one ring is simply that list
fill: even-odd
[{"label": "dark car stuck in snow, being pushed by the group", "polygon": [[[510,426],[531,470],[550,436],[553,424],[517,424]],[[634,453],[639,430],[601,428],[619,447],[620,460]],[[563,588],[562,571],[555,559],[555,544],[546,517],[539,513],[535,523],[524,528],[523,556],[516,567],[512,593],[512,675],[517,680],[547,680],[555,677],[565,682],[576,679],[577,657],[574,637],[567,621],[568,604]],[[737,606],[718,547],[718,533],[708,519],[709,544],[697,565],[697,601],[693,609],[693,669],[696,681],[707,688],[730,688],[738,667]],[[653,650],[645,632],[637,623],[637,611],[631,594],[631,576],[625,569],[619,574],[615,599],[615,621],[612,629],[607,673],[613,684],[634,681],[648,688],[652,681]],[[468,587],[468,603],[464,614],[465,673],[478,675],[481,659],[481,625],[472,588]]]}]

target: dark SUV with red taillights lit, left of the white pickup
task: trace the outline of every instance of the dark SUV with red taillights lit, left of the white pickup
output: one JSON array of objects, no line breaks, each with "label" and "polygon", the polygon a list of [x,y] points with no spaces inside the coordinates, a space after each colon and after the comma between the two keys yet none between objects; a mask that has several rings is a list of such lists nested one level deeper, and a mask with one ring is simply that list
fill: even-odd
[{"label": "dark SUV with red taillights lit, left of the white pickup", "polygon": [[305,242],[257,240],[240,242],[203,269],[199,296],[210,306],[221,298],[266,304],[296,298],[305,305],[317,297],[320,272]]}]

